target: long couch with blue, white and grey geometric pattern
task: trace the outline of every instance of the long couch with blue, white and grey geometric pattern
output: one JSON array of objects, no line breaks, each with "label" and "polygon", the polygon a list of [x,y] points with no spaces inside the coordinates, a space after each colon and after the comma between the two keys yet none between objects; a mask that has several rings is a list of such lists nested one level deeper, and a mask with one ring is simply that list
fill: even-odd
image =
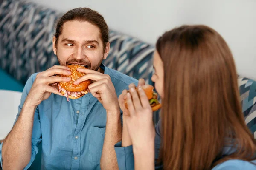
[{"label": "long couch with blue, white and grey geometric pattern", "polygon": [[[1,3],[1,2],[0,2]],[[3,0],[0,4],[0,69],[21,85],[58,60],[52,51],[55,22],[63,13],[30,1]],[[104,64],[135,79],[151,82],[154,45],[110,29],[111,50]],[[256,82],[238,77],[245,122],[256,137]],[[154,122],[159,113],[154,114]],[[37,155],[38,164],[40,154]],[[33,166],[33,165],[32,165]],[[35,168],[35,167],[32,167]]]}]

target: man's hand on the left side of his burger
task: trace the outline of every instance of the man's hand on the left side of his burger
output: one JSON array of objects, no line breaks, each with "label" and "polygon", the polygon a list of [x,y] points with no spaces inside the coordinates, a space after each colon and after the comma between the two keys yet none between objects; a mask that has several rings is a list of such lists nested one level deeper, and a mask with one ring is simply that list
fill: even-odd
[{"label": "man's hand on the left side of his burger", "polygon": [[51,85],[56,82],[69,82],[71,80],[70,77],[55,76],[56,74],[70,75],[71,72],[69,70],[70,68],[66,66],[55,65],[46,71],[38,73],[26,98],[26,102],[36,107],[43,100],[48,99],[51,93],[63,96],[57,88]]}]

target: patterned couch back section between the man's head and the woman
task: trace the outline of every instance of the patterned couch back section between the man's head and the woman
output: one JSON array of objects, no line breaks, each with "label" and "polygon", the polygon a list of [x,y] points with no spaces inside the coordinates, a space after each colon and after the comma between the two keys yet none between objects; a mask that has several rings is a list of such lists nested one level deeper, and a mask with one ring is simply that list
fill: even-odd
[{"label": "patterned couch back section between the man's head and the woman", "polygon": [[109,36],[110,53],[103,63],[135,79],[143,78],[146,83],[153,85],[154,46],[117,31],[110,31]]}]

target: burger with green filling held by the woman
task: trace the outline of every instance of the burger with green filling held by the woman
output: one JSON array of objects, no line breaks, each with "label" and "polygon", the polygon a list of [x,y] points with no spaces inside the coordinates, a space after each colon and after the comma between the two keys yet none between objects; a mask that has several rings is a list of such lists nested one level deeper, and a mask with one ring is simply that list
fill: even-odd
[{"label": "burger with green filling held by the woman", "polygon": [[[148,97],[148,102],[152,110],[157,111],[158,109],[160,109],[162,105],[157,100],[158,95],[157,93],[154,92],[154,87],[152,85],[143,85],[141,88],[144,90],[146,96]],[[136,90],[138,91],[138,88],[136,88]],[[126,101],[125,101],[125,107],[128,108]]]}]

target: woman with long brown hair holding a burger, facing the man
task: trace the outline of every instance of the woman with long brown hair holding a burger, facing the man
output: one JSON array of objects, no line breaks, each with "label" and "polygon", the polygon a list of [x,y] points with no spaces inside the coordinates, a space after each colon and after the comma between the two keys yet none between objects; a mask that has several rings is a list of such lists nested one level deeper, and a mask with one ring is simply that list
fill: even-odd
[{"label": "woman with long brown hair holding a burger, facing the man", "polygon": [[153,170],[155,160],[165,170],[256,169],[256,141],[244,122],[224,39],[207,26],[181,26],[163,34],[156,48],[151,79],[163,101],[161,120],[155,130],[143,90],[123,91],[119,169]]}]

